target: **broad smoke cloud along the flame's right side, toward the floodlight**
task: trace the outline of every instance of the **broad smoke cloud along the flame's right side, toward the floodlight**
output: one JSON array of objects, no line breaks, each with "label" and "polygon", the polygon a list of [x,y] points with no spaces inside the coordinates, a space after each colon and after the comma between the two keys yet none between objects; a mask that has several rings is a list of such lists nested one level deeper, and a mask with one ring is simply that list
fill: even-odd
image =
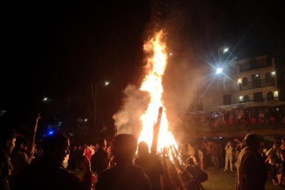
[{"label": "broad smoke cloud along the flame's right side, toward the floodlight", "polygon": [[[174,54],[174,53],[173,53]],[[173,55],[174,56],[174,55]],[[206,71],[195,56],[176,55],[177,59],[169,60],[162,81],[162,96],[171,131],[176,137],[183,133],[182,120],[187,112],[198,111],[197,105],[202,99]],[[181,134],[178,134],[180,131]]]}]

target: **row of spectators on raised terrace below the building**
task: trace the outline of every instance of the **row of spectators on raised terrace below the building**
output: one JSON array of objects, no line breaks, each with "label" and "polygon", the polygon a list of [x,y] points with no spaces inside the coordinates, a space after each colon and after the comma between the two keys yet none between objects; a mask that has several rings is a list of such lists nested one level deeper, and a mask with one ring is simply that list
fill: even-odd
[{"label": "row of spectators on raised terrace below the building", "polygon": [[199,127],[258,127],[266,125],[284,125],[285,107],[251,107],[231,111],[216,110],[213,112],[191,112],[186,117],[185,125],[189,129]]}]

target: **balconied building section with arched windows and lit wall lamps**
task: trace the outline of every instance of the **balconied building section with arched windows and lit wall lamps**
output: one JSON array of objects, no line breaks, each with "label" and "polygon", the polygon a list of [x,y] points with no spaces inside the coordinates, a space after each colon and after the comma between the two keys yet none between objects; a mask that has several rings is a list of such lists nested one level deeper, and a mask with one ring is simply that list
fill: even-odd
[{"label": "balconied building section with arched windows and lit wall lamps", "polygon": [[278,99],[275,59],[258,56],[237,61],[239,102],[267,102]]}]

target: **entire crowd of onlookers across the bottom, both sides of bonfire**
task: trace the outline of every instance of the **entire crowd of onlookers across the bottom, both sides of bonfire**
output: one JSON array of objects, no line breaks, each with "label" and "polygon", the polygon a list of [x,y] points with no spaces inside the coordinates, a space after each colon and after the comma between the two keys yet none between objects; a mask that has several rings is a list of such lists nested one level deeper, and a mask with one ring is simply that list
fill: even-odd
[{"label": "entire crowd of onlookers across the bottom, both sides of bonfire", "polygon": [[[242,142],[241,142],[242,141]],[[267,142],[255,134],[244,140],[209,139],[180,145],[188,189],[202,189],[207,167],[237,172],[236,189],[264,189],[266,180],[284,187],[285,138]],[[1,132],[0,189],[162,189],[165,169],[147,143],[131,134],[107,143],[72,145],[63,134],[46,136],[29,154],[12,132]],[[137,151],[138,149],[138,151]],[[66,163],[66,164],[65,164]],[[81,170],[81,179],[74,175]],[[228,171],[229,170],[229,171]]]}]

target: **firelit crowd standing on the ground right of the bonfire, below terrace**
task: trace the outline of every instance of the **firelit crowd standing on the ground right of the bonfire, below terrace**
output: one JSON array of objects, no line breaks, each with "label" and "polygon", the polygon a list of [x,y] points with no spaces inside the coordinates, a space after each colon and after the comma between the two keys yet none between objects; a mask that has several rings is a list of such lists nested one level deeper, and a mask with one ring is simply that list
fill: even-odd
[{"label": "firelit crowd standing on the ground right of the bonfire, below terrace", "polygon": [[[279,187],[285,187],[285,138],[259,138],[259,144],[255,145],[255,158],[249,160],[249,168],[255,165],[255,161],[261,165],[259,169],[264,168],[262,173],[266,179],[272,180],[273,184]],[[249,144],[249,143],[247,143]],[[224,171],[249,170],[248,168],[239,168],[246,142],[235,139],[204,139],[196,140],[196,143],[190,142],[181,145],[180,150],[184,160],[189,158],[204,170],[207,167],[215,169],[224,169]],[[242,154],[242,155],[241,155]],[[262,160],[260,163],[260,160]],[[249,170],[251,172],[251,170]],[[252,172],[256,172],[254,169]],[[254,176],[254,174],[251,173]]]}]

